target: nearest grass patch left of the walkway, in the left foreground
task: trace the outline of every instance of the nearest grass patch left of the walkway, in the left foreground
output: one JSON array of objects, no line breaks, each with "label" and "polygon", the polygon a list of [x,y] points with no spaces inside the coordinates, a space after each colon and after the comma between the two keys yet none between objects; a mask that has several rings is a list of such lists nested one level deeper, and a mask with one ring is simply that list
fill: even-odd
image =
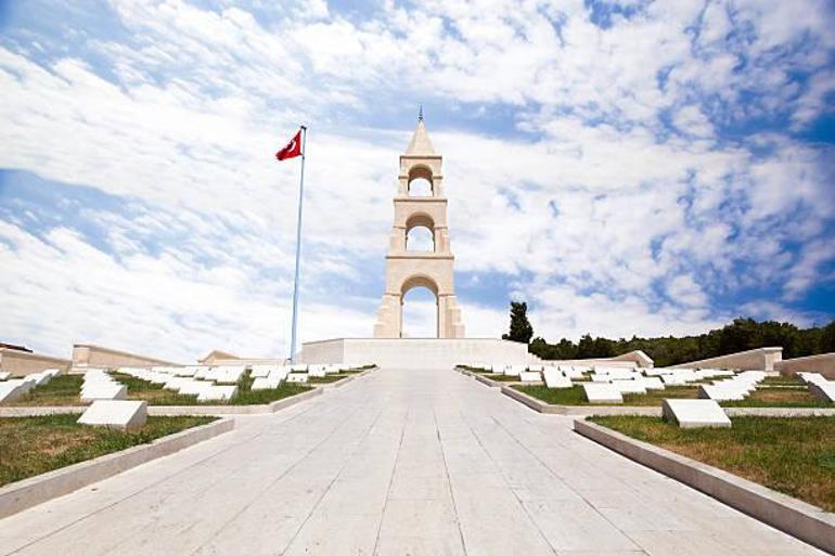
[{"label": "nearest grass patch left of the walkway, in the left foreground", "polygon": [[76,423],[78,415],[0,419],[0,486],[118,452],[215,417],[147,417],[140,430],[124,431]]}]

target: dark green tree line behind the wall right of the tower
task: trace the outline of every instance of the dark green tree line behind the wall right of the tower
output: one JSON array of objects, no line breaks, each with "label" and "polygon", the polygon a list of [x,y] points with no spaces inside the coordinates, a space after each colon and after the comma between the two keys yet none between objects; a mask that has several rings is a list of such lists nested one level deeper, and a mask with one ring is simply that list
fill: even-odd
[{"label": "dark green tree line behind the wall right of the tower", "polygon": [[695,336],[609,339],[586,334],[576,342],[562,338],[549,344],[534,336],[527,303],[511,301],[510,332],[502,338],[528,344],[528,351],[542,359],[609,358],[640,349],[656,366],[667,366],[772,346],[783,348],[783,359],[835,352],[835,320],[826,326],[799,328],[788,322],[738,318]]}]

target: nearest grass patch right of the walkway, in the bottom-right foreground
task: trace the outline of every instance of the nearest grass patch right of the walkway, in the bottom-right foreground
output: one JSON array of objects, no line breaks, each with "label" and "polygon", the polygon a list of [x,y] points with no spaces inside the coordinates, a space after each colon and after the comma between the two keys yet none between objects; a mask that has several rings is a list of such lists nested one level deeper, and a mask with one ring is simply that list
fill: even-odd
[{"label": "nearest grass patch right of the walkway, in the bottom-right foreground", "polygon": [[657,417],[590,421],[835,512],[835,418],[733,417],[731,428],[695,429]]}]

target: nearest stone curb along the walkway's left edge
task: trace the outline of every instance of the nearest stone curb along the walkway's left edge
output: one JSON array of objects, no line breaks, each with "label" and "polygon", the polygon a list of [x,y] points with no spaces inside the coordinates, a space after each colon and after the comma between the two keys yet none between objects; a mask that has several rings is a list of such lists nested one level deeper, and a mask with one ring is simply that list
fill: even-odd
[{"label": "nearest stone curb along the walkway's left edge", "polygon": [[158,438],[149,444],[140,444],[119,452],[104,454],[87,462],[79,462],[1,487],[0,518],[69,494],[141,464],[228,432],[233,428],[234,419],[221,418],[214,423]]}]

